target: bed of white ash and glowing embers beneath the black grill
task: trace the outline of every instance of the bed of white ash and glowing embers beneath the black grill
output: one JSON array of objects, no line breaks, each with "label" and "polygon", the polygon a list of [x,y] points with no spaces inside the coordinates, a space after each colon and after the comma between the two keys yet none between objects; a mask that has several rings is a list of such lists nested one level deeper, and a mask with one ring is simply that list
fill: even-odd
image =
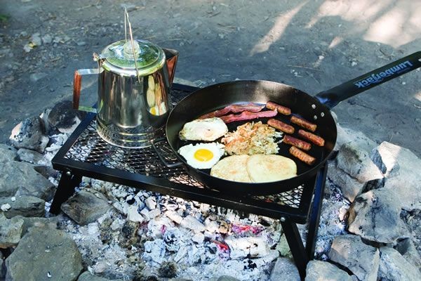
[{"label": "bed of white ash and glowing embers beneath the black grill", "polygon": [[[260,216],[244,216],[208,204],[88,178],[83,178],[82,185],[102,192],[114,206],[88,226],[77,226],[68,218],[65,223],[92,273],[130,280],[138,266],[133,257],[137,257],[154,274],[163,261],[173,261],[178,264],[178,277],[187,279],[212,280],[226,274],[240,280],[267,280],[271,263],[279,256],[270,249],[281,237],[276,220],[265,218],[263,221],[273,224],[265,227],[259,223]],[[119,246],[118,237],[129,219],[139,223],[138,236],[145,241],[125,249]],[[111,238],[103,243],[99,228],[107,220]],[[222,229],[224,234],[219,233]],[[234,241],[232,249],[227,241]],[[244,246],[246,241],[248,246]],[[255,242],[258,247],[252,246]]]}]

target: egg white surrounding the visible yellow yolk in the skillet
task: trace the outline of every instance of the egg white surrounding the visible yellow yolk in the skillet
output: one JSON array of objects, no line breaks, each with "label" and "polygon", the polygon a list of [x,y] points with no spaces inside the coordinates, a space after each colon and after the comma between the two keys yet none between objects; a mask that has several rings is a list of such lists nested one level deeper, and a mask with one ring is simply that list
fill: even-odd
[{"label": "egg white surrounding the visible yellow yolk in the skillet", "polygon": [[[196,145],[185,145],[182,146],[178,153],[182,157],[184,157],[187,161],[187,164],[192,166],[196,169],[210,169],[218,163],[219,159],[224,155],[225,145],[222,145],[221,143],[197,143]],[[209,159],[208,161],[199,161],[194,157],[194,153],[199,149],[206,149],[210,150],[210,152],[213,153],[213,157]]]}]

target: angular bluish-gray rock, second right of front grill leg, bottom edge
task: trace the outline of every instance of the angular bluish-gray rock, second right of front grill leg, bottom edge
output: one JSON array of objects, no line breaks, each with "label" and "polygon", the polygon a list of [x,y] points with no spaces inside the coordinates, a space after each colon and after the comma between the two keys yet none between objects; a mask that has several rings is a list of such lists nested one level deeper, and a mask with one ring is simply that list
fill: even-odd
[{"label": "angular bluish-gray rock, second right of front grill leg, bottom edge", "polygon": [[328,256],[330,260],[351,270],[359,280],[377,280],[379,250],[364,244],[357,235],[335,237]]}]

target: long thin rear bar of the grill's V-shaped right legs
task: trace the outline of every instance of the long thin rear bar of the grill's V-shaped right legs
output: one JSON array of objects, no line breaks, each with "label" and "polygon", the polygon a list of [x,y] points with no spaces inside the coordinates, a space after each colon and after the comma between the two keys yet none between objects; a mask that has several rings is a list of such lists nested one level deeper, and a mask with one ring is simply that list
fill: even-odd
[{"label": "long thin rear bar of the grill's V-shaped right legs", "polygon": [[321,203],[323,202],[327,171],[327,165],[323,166],[320,169],[319,174],[317,174],[316,183],[314,187],[314,198],[309,217],[309,232],[307,235],[307,242],[305,245],[307,256],[310,260],[314,258],[314,249],[316,247],[317,232],[319,231]]}]

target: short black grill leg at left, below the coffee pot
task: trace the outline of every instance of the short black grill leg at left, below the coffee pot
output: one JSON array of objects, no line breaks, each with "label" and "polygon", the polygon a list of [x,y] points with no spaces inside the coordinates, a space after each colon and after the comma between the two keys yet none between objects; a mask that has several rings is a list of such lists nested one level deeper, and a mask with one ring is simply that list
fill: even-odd
[{"label": "short black grill leg at left, below the coffee pot", "polygon": [[80,176],[79,174],[74,175],[64,172],[62,173],[57,190],[55,190],[53,202],[51,202],[51,214],[60,213],[61,204],[73,195],[74,188],[76,188],[76,186],[78,186],[79,183],[81,183],[81,181],[82,176]]}]

